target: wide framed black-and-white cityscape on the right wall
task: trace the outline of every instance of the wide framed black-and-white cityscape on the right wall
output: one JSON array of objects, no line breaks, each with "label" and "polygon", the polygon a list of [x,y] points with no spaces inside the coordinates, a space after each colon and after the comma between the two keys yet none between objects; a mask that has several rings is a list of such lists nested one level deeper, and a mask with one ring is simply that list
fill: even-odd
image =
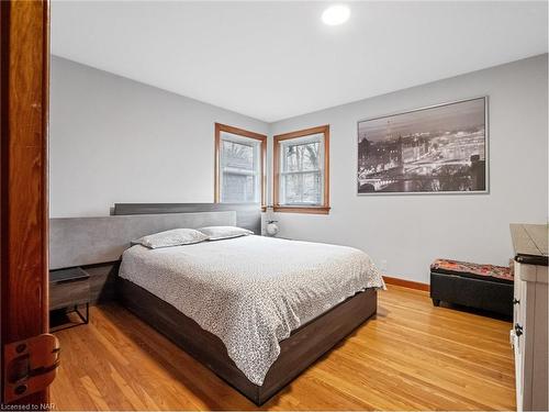
[{"label": "wide framed black-and-white cityscape on the right wall", "polygon": [[358,122],[358,194],[488,193],[488,98]]}]

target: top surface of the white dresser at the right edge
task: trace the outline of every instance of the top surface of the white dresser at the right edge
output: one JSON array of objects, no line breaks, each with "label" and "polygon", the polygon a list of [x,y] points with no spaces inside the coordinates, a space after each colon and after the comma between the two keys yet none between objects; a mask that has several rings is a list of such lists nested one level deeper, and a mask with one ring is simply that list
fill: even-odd
[{"label": "top surface of the white dresser at the right edge", "polygon": [[511,237],[515,249],[515,260],[520,264],[548,266],[547,224],[512,223]]}]

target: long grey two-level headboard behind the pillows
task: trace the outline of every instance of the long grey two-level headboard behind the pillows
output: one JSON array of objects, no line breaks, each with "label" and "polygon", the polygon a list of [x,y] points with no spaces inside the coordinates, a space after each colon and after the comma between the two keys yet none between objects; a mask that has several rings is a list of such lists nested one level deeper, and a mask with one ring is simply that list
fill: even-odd
[{"label": "long grey two-level headboard behind the pillows", "polygon": [[259,204],[117,203],[114,215],[49,220],[49,269],[119,260],[130,243],[177,227],[238,225],[261,232]]}]

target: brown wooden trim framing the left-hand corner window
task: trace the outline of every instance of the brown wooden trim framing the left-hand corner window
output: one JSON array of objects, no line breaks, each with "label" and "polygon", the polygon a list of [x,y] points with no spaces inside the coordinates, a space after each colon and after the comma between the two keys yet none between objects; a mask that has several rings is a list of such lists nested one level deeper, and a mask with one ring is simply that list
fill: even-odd
[{"label": "brown wooden trim framing the left-hand corner window", "polygon": [[261,171],[261,210],[266,210],[267,199],[267,136],[250,132],[244,129],[233,127],[222,123],[215,123],[215,166],[214,166],[214,203],[221,203],[221,186],[220,186],[220,171],[221,171],[221,132],[236,134],[243,137],[255,138],[261,142],[260,156],[259,156],[259,170]]}]

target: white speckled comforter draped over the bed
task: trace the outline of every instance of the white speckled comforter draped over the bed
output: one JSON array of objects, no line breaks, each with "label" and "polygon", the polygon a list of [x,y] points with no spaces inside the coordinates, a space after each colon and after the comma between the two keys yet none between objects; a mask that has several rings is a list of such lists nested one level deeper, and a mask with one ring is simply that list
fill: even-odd
[{"label": "white speckled comforter draped over the bed", "polygon": [[290,332],[367,288],[384,288],[361,250],[262,236],[124,252],[120,276],[219,336],[262,385]]}]

